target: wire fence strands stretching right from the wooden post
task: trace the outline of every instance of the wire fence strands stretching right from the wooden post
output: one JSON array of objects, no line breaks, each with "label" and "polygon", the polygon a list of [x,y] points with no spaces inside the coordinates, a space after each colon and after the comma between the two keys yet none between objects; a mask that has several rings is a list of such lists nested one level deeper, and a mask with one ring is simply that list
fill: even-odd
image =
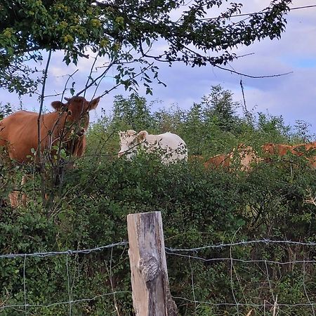
[{"label": "wire fence strands stretching right from the wooden post", "polygon": [[[295,242],[291,240],[271,240],[271,239],[260,239],[260,240],[251,240],[251,241],[241,241],[241,242],[230,242],[227,244],[221,243],[221,244],[211,244],[206,246],[199,246],[195,248],[189,248],[189,249],[176,249],[171,247],[166,247],[166,254],[169,255],[169,258],[171,257],[178,257],[183,258],[183,260],[187,259],[188,263],[191,264],[192,260],[195,261],[202,261],[204,263],[217,263],[217,262],[225,262],[226,266],[229,266],[229,277],[230,277],[230,300],[227,302],[223,302],[223,298],[221,299],[222,302],[216,301],[214,299],[210,301],[204,301],[198,298],[197,294],[195,293],[192,298],[190,297],[181,297],[181,296],[173,296],[173,300],[178,302],[189,303],[192,306],[197,305],[208,305],[212,308],[219,308],[222,312],[223,309],[227,310],[229,308],[234,308],[235,312],[233,312],[233,315],[255,315],[259,313],[259,315],[264,316],[277,316],[279,315],[279,312],[283,312],[284,315],[290,315],[287,314],[287,311],[284,310],[284,308],[289,308],[291,312],[296,312],[297,308],[303,308],[304,312],[308,311],[308,315],[315,316],[315,308],[316,308],[316,302],[313,302],[310,294],[313,294],[313,298],[315,298],[315,292],[311,292],[311,288],[308,289],[306,284],[306,265],[312,265],[312,270],[315,271],[315,264],[316,260],[311,257],[310,259],[307,258],[298,258],[296,260],[291,260],[291,257],[289,257],[289,260],[271,260],[271,259],[262,259],[262,258],[235,258],[233,255],[232,249],[238,246],[254,246],[254,249],[256,249],[257,244],[263,244],[263,246],[266,245],[284,245],[284,246],[302,246],[305,248],[311,248],[315,249],[316,242]],[[216,250],[216,252],[210,254],[209,256],[201,256],[199,252],[207,251],[208,249]],[[228,254],[228,256],[220,257],[220,251],[225,250],[225,254]],[[199,254],[199,255],[198,255]],[[237,269],[237,263],[239,264],[239,270]],[[244,284],[242,284],[242,276],[240,273],[240,268],[244,270],[246,267],[244,265],[256,265],[256,269],[261,270],[261,274],[264,275],[266,281],[265,281],[265,289],[268,290],[270,293],[270,299],[263,294],[256,296],[256,297],[249,297],[246,296],[244,293]],[[262,266],[263,264],[263,266]],[[305,296],[306,301],[292,301],[291,303],[288,303],[287,301],[279,301],[278,296],[275,294],[275,281],[273,279],[270,279],[270,272],[268,265],[277,265],[277,267],[282,267],[288,265],[291,270],[294,269],[294,265],[302,265],[303,270],[303,289],[302,294]],[[250,268],[250,266],[249,266]],[[192,270],[192,268],[191,268]],[[279,272],[280,274],[282,272]],[[311,272],[309,272],[311,273]],[[309,274],[310,276],[310,274]],[[244,281],[244,280],[243,280]],[[263,281],[261,281],[263,282]],[[274,283],[272,283],[274,282]],[[273,284],[273,285],[272,285]],[[253,284],[248,284],[247,286],[252,287]],[[294,287],[294,285],[293,285]],[[237,297],[237,292],[239,293],[239,296]],[[190,296],[190,293],[188,292],[186,296]],[[225,301],[225,300],[224,300]],[[261,303],[262,302],[262,303]],[[181,304],[181,303],[180,303]],[[185,304],[184,304],[185,305]],[[242,310],[243,308],[243,310]],[[213,312],[213,315],[222,315],[222,314],[215,314]],[[292,314],[291,314],[292,315]],[[301,315],[301,314],[299,314]],[[303,314],[307,315],[307,314]]]}]

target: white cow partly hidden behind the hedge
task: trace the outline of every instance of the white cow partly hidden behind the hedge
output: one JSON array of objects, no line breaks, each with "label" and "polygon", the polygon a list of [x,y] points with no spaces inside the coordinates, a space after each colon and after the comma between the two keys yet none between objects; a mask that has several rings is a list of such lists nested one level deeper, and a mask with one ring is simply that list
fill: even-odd
[{"label": "white cow partly hidden behind the hedge", "polygon": [[118,156],[125,155],[131,159],[139,149],[147,153],[158,152],[161,155],[162,163],[169,164],[178,160],[187,161],[187,145],[180,136],[173,133],[150,135],[147,131],[120,131],[119,139],[121,150]]}]

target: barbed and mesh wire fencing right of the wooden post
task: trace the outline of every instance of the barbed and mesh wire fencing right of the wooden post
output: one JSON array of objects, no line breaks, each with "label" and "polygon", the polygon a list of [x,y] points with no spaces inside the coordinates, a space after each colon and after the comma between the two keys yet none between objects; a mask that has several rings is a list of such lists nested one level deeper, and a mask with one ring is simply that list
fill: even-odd
[{"label": "barbed and mesh wire fencing right of the wooden post", "polygon": [[[254,246],[256,244],[263,244],[263,245],[275,245],[275,244],[284,244],[287,246],[305,246],[305,247],[315,247],[315,242],[293,242],[291,240],[272,240],[272,239],[261,239],[261,240],[251,240],[251,241],[241,241],[241,242],[231,242],[228,244],[213,244],[213,245],[207,245],[207,246],[200,246],[196,248],[190,248],[190,249],[173,249],[173,248],[166,248],[166,254],[170,256],[177,256],[182,258],[187,258],[188,263],[190,263],[191,266],[191,260],[199,260],[203,262],[219,262],[219,261],[225,261],[227,263],[227,267],[230,270],[230,299],[232,301],[223,302],[225,301],[225,298],[211,298],[210,301],[205,301],[202,299],[199,299],[197,296],[197,292],[195,289],[199,289],[199,284],[192,284],[192,298],[187,297],[180,297],[180,296],[172,296],[173,300],[178,301],[178,304],[184,304],[187,303],[191,304],[193,308],[197,311],[197,306],[201,305],[208,305],[214,309],[218,308],[223,312],[223,310],[230,310],[235,309],[235,312],[233,312],[233,315],[254,315],[256,314],[262,314],[262,315],[279,315],[279,311],[284,310],[285,308],[288,308],[292,312],[297,309],[303,309],[305,312],[308,310],[310,312],[310,315],[315,316],[315,310],[316,310],[316,302],[315,300],[312,300],[312,297],[315,298],[315,296],[310,296],[311,293],[310,290],[308,291],[308,287],[305,285],[305,275],[306,268],[305,265],[312,265],[315,267],[316,260],[312,259],[298,259],[298,260],[289,260],[289,261],[274,261],[274,260],[268,260],[268,259],[242,259],[242,258],[233,258],[232,257],[232,249],[235,246]],[[225,249],[228,248],[230,250],[229,257],[225,258],[202,258],[202,256],[196,256],[195,254],[198,251],[202,251],[205,249]],[[181,252],[192,252],[192,254],[181,254]],[[229,264],[230,263],[230,264]],[[250,296],[248,297],[244,293],[244,280],[242,279],[242,275],[239,274],[240,270],[237,270],[237,263],[241,264],[240,267],[242,269],[245,269],[246,267],[243,266],[243,264],[254,264],[257,265],[258,263],[264,263],[265,265],[265,278],[268,280],[267,287],[268,293],[270,296],[267,296],[267,294],[264,294],[263,296]],[[288,303],[287,301],[278,302],[277,301],[277,295],[279,293],[278,289],[275,287],[275,280],[270,280],[270,272],[268,270],[268,265],[290,265],[292,268],[294,265],[302,265],[302,279],[303,279],[303,296],[305,296],[305,301],[290,301],[291,303]],[[263,269],[264,270],[264,269]],[[262,270],[262,271],[263,271]],[[315,268],[312,268],[312,270],[315,270]],[[192,272],[192,268],[191,268]],[[229,273],[229,271],[228,271]],[[308,275],[311,276],[312,272],[309,272]],[[193,275],[191,275],[191,280],[193,280]],[[212,291],[210,291],[212,293]],[[238,294],[238,295],[236,295]],[[190,294],[187,294],[190,296]],[[203,295],[203,294],[202,294]],[[248,294],[249,295],[249,294]],[[222,302],[220,302],[222,301]],[[255,302],[253,302],[255,301]],[[258,303],[262,302],[262,303]],[[184,303],[181,303],[184,302]],[[244,308],[242,311],[241,309]],[[246,310],[246,312],[245,312]],[[267,311],[269,310],[268,314]],[[212,310],[215,312],[214,310]],[[271,313],[271,314],[270,314]],[[273,313],[273,314],[272,314]],[[299,314],[301,315],[301,314]],[[305,315],[305,314],[304,314]]]}]

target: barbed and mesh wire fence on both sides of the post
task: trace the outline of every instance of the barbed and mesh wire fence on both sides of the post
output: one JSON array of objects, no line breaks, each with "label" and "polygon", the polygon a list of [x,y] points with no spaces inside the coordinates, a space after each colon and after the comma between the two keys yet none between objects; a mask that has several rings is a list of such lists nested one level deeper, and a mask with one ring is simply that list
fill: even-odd
[{"label": "barbed and mesh wire fence on both sides of the post", "polygon": [[[114,289],[112,288],[112,291],[110,293],[105,293],[105,294],[98,294],[96,296],[93,296],[91,298],[78,298],[78,299],[74,299],[72,298],[72,287],[73,284],[71,284],[70,279],[72,279],[70,277],[70,267],[69,267],[69,261],[68,261],[68,256],[72,256],[74,254],[91,254],[95,251],[103,251],[105,249],[111,249],[111,251],[114,249],[114,247],[116,246],[127,246],[129,244],[129,242],[126,241],[122,241],[122,242],[115,242],[112,244],[108,244],[106,246],[98,246],[95,247],[93,249],[82,249],[82,250],[67,250],[67,251],[48,251],[48,252],[36,252],[33,254],[0,254],[0,259],[4,259],[4,258],[23,258],[24,259],[24,267],[23,267],[23,273],[22,273],[22,291],[24,292],[23,295],[23,303],[20,304],[11,304],[11,305],[4,305],[4,301],[0,301],[0,311],[2,310],[6,310],[6,309],[18,309],[20,310],[20,312],[25,312],[25,315],[28,315],[28,312],[30,312],[31,308],[53,308],[54,306],[58,306],[58,305],[69,305],[69,310],[68,310],[68,315],[72,315],[72,305],[77,304],[77,303],[82,303],[82,302],[88,302],[88,301],[93,301],[96,300],[98,298],[104,298],[104,297],[108,297],[108,296],[113,296],[114,298],[114,305],[115,305],[115,296],[119,295],[119,294],[129,294],[131,295],[131,291],[114,291]],[[310,297],[308,294],[308,290],[307,287],[305,287],[305,265],[307,264],[312,264],[315,265],[316,264],[316,260],[312,260],[312,259],[300,259],[300,260],[293,260],[293,261],[273,261],[273,260],[268,260],[268,259],[241,259],[241,258],[232,258],[232,248],[235,246],[252,246],[252,245],[256,245],[256,244],[263,244],[263,245],[275,245],[275,244],[285,244],[285,245],[293,245],[293,246],[306,246],[306,247],[315,247],[316,246],[316,242],[295,242],[295,241],[291,241],[291,240],[272,240],[272,239],[257,239],[257,240],[250,240],[250,241],[244,241],[242,240],[241,242],[231,242],[231,243],[220,243],[220,244],[211,244],[211,245],[206,245],[206,246],[199,246],[199,247],[195,247],[195,248],[190,248],[190,249],[175,249],[175,248],[171,248],[171,247],[166,247],[165,248],[165,252],[166,254],[170,255],[170,256],[178,256],[178,257],[183,257],[183,258],[188,258],[189,262],[190,262],[190,267],[191,267],[191,284],[192,284],[192,296],[193,299],[190,298],[186,298],[186,297],[179,297],[179,296],[173,296],[173,299],[178,300],[178,301],[184,301],[187,303],[192,303],[194,304],[193,306],[195,306],[195,310],[197,310],[199,305],[205,304],[205,305],[211,305],[214,308],[218,307],[218,308],[225,308],[225,306],[227,308],[235,308],[237,315],[244,315],[241,313],[241,311],[239,310],[239,308],[257,308],[257,312],[258,310],[260,310],[261,308],[263,308],[265,310],[265,308],[291,308],[294,309],[295,308],[309,308],[311,315],[315,316],[315,308],[316,308],[316,303],[312,301],[312,296]],[[227,258],[202,258],[202,256],[196,256],[196,255],[192,255],[192,254],[181,254],[181,252],[193,252],[193,253],[197,253],[198,251],[202,251],[205,249],[224,249],[224,248],[230,248],[230,257]],[[65,265],[65,269],[66,269],[66,273],[67,273],[67,301],[61,301],[61,302],[54,302],[54,303],[47,303],[47,304],[33,304],[33,303],[27,303],[27,291],[30,291],[31,289],[27,289],[26,287],[26,279],[27,276],[25,275],[25,265],[27,262],[27,258],[29,257],[40,257],[40,258],[44,258],[44,257],[49,257],[49,256],[61,256],[61,255],[65,255],[67,256],[67,260],[66,260],[66,265]],[[268,289],[270,289],[270,300],[273,302],[271,303],[270,301],[267,300],[267,298],[261,298],[261,297],[256,297],[256,301],[262,301],[263,303],[252,303],[252,298],[246,298],[246,296],[243,296],[243,298],[238,298],[237,296],[235,297],[235,291],[237,291],[237,289],[235,288],[235,285],[232,285],[232,294],[235,297],[235,301],[233,302],[212,302],[212,301],[203,301],[203,300],[199,300],[199,297],[197,295],[197,292],[195,291],[197,285],[195,284],[195,277],[194,277],[194,269],[191,266],[191,259],[194,260],[200,260],[200,261],[204,261],[204,262],[216,262],[216,261],[227,261],[230,262],[230,270],[231,270],[231,280],[230,282],[232,282],[232,277],[234,275],[234,278],[237,279],[237,284],[239,284],[239,275],[237,273],[237,270],[235,270],[235,263],[244,263],[244,264],[248,264],[248,263],[265,263],[265,268],[266,268],[266,277],[268,279]],[[110,261],[112,262],[112,252],[111,252],[111,259]],[[293,303],[287,303],[287,302],[277,302],[277,296],[275,296],[274,291],[275,288],[272,287],[272,284],[270,282],[270,277],[269,277],[269,272],[268,272],[268,264],[277,264],[277,265],[294,265],[294,264],[302,264],[303,265],[303,289],[304,289],[304,294],[305,297],[307,298],[308,302],[293,302]],[[112,265],[110,264],[110,270],[112,270]],[[110,272],[110,275],[112,275],[112,272]],[[242,284],[239,284],[239,287],[242,288]],[[237,292],[236,292],[237,293]],[[217,299],[217,298],[216,298]],[[214,300],[214,298],[212,299]],[[241,302],[242,301],[242,302]],[[247,315],[251,315],[251,314],[247,314]]]}]

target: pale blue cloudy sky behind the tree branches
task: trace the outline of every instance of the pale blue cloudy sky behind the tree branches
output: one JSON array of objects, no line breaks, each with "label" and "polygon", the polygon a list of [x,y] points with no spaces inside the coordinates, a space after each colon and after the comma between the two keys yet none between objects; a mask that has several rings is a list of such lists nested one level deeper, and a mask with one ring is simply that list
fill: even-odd
[{"label": "pale blue cloudy sky behind the tree branches", "polygon": [[[244,4],[242,13],[260,11],[268,6],[267,0],[242,0]],[[294,0],[291,7],[316,5],[316,0]],[[212,11],[210,16],[216,16],[218,11]],[[316,133],[316,7],[302,8],[289,12],[287,15],[287,29],[282,33],[282,38],[271,41],[265,39],[251,46],[240,46],[236,53],[247,55],[239,58],[227,66],[237,72],[251,76],[265,76],[273,74],[290,74],[281,77],[253,79],[240,77],[228,71],[219,70],[211,66],[190,67],[183,64],[174,64],[172,67],[157,63],[159,79],[166,87],[153,84],[153,95],[146,96],[140,88],[140,96],[149,102],[159,100],[155,108],[178,105],[189,109],[193,103],[199,103],[204,95],[209,94],[211,86],[220,84],[225,90],[230,90],[235,101],[242,102],[242,89],[239,85],[242,79],[246,107],[254,112],[264,112],[271,115],[282,115],[286,124],[294,126],[296,120],[303,120],[310,124],[310,132]],[[86,78],[91,69],[93,60],[79,61],[79,71],[74,76],[77,91],[84,88]],[[67,67],[62,63],[62,52],[54,53],[48,72],[47,95],[53,95],[63,90],[67,74],[74,72],[74,65]],[[114,72],[112,72],[114,75]],[[105,91],[114,85],[114,79],[109,74],[100,85],[100,90]],[[96,91],[98,95],[99,91]],[[93,98],[94,88],[91,88],[86,98]],[[100,93],[99,93],[100,94]],[[100,101],[100,107],[91,113],[91,120],[96,121],[101,115],[101,107],[110,113],[113,97],[122,94],[129,96],[123,88],[112,91]],[[18,98],[15,93],[8,93],[0,88],[2,103],[10,102],[15,109],[20,105],[26,110],[37,111],[39,100],[37,96],[23,96]],[[60,97],[52,96],[45,99],[47,109],[53,100]]]}]

